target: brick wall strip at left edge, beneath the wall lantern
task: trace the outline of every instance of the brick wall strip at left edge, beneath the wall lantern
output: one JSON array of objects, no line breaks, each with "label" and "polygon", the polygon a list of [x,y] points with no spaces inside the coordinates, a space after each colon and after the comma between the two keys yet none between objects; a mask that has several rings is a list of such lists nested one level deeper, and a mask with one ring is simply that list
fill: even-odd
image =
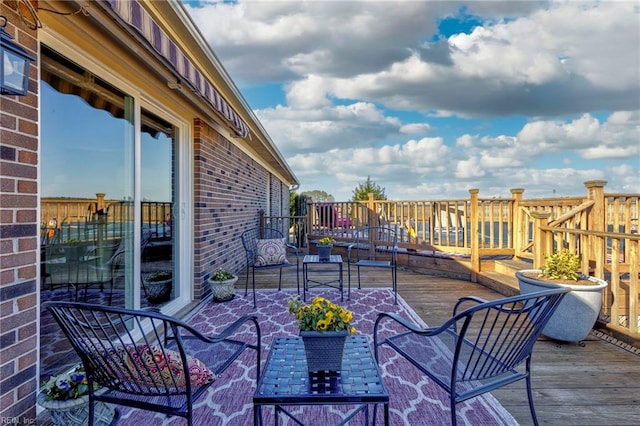
[{"label": "brick wall strip at left edge, beneath the wall lantern", "polygon": [[[37,31],[3,0],[14,42],[37,51]],[[0,419],[35,419],[38,360],[38,64],[27,96],[0,95]]]}]

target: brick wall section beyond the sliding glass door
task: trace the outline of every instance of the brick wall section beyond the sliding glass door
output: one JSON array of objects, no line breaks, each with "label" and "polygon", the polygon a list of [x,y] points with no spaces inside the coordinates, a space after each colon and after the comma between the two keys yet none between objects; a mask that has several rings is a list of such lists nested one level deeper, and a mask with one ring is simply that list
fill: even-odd
[{"label": "brick wall section beyond the sliding glass door", "polygon": [[[200,119],[195,128],[194,286],[196,299],[216,268],[240,272],[245,255],[240,235],[258,226],[266,211],[268,172]],[[281,187],[273,182],[272,187]],[[272,193],[272,203],[273,193]]]}]

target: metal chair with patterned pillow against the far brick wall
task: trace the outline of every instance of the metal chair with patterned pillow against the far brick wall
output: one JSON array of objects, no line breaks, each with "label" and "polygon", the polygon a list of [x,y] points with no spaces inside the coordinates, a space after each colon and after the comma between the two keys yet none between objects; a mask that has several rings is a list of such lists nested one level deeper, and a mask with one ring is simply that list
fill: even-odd
[{"label": "metal chair with patterned pillow against the far brick wall", "polygon": [[[278,281],[278,290],[282,289],[282,269],[294,267],[296,268],[296,283],[298,285],[298,293],[300,293],[300,259],[298,257],[298,247],[295,244],[287,243],[286,238],[281,231],[274,228],[253,228],[242,233],[242,245],[247,258],[247,277],[244,286],[244,295],[249,292],[249,269],[251,269],[251,282],[253,286],[253,307],[256,304],[256,270],[264,269],[279,269],[280,278]],[[275,256],[274,259],[267,259],[265,261],[264,256],[260,252],[259,241],[262,240],[281,240],[277,241],[278,245],[282,242],[284,247],[281,248],[283,252]],[[287,259],[287,253],[292,252],[295,255],[296,263],[291,263]],[[282,257],[284,256],[284,258]]]}]

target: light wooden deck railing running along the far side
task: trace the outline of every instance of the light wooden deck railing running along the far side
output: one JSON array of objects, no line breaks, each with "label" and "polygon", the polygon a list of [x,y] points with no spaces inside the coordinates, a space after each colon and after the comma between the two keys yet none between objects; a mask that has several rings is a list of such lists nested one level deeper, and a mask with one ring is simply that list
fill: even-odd
[{"label": "light wooden deck railing running along the far side", "polygon": [[523,199],[524,189],[510,198],[374,200],[307,205],[308,240],[332,235],[349,241],[362,226],[389,226],[400,246],[467,256],[475,281],[481,265],[495,256],[532,262],[563,247],[580,255],[585,273],[609,282],[602,307],[613,328],[639,335],[640,194],[606,194],[604,181],[585,182],[585,197]]}]

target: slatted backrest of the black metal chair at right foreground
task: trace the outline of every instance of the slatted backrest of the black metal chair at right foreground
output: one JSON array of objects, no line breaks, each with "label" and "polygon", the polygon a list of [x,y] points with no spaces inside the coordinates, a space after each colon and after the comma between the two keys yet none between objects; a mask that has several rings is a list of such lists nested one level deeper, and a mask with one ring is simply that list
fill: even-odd
[{"label": "slatted backrest of the black metal chair at right foreground", "polygon": [[[526,361],[558,304],[569,289],[548,290],[476,304],[461,298],[450,320],[457,339],[451,377],[457,381],[494,378]],[[457,370],[457,371],[456,371]]]}]

